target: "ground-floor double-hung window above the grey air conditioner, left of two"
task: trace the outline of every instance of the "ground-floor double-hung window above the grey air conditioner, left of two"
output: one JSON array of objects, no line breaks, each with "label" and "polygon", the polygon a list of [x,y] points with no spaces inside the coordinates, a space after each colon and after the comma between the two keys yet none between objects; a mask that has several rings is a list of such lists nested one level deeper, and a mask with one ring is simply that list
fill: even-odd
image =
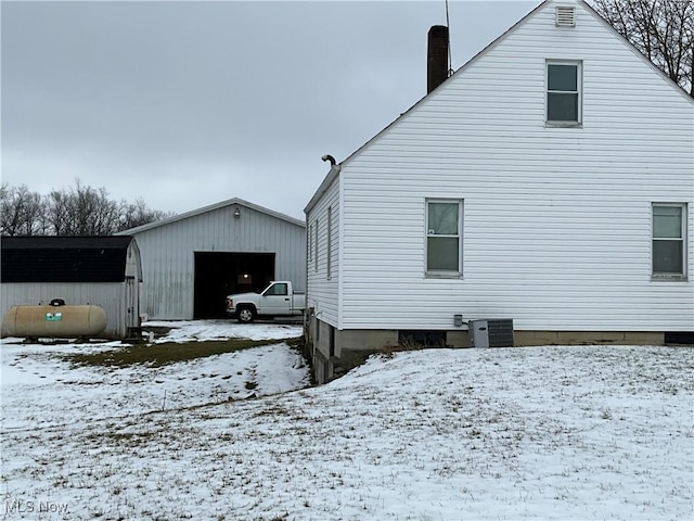
[{"label": "ground-floor double-hung window above the grey air conditioner, left of two", "polygon": [[432,199],[426,201],[426,272],[462,274],[463,202]]}]

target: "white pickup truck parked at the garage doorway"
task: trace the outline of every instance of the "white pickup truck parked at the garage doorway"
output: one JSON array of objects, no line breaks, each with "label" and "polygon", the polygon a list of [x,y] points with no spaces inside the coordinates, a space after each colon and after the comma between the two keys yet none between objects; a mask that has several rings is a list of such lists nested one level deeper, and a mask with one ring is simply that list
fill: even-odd
[{"label": "white pickup truck parked at the garage doorway", "polygon": [[288,280],[270,282],[261,293],[227,295],[227,316],[240,322],[253,322],[257,317],[287,317],[303,315],[306,293],[294,291]]}]

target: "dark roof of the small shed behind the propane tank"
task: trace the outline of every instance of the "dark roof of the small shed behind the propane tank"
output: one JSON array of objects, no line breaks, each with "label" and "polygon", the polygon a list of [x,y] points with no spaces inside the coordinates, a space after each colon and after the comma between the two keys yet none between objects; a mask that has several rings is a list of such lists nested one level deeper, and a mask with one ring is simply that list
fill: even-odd
[{"label": "dark roof of the small shed behind the propane tank", "polygon": [[3,237],[2,282],[123,282],[130,236]]}]

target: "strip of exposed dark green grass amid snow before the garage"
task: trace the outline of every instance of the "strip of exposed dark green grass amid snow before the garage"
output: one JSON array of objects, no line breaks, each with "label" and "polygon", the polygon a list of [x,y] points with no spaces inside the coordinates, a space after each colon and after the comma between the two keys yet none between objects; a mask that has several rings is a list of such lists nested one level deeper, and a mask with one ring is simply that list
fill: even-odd
[{"label": "strip of exposed dark green grass amid snow before the garage", "polygon": [[74,366],[128,367],[144,364],[160,367],[206,356],[222,355],[260,345],[278,343],[277,340],[229,339],[205,342],[166,342],[153,345],[130,345],[103,353],[70,354],[64,358]]}]

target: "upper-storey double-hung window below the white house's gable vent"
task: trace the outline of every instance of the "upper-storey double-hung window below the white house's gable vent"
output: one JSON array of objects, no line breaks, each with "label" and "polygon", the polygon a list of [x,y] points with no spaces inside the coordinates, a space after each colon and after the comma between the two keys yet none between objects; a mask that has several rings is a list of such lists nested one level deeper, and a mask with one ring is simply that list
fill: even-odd
[{"label": "upper-storey double-hung window below the white house's gable vent", "polygon": [[581,123],[581,62],[547,62],[547,123]]}]

